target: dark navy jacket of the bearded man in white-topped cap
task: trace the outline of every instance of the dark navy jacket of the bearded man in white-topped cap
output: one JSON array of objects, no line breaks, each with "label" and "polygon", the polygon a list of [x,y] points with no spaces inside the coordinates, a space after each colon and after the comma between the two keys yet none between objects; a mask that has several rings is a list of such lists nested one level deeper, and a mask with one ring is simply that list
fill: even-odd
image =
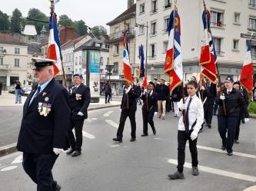
[{"label": "dark navy jacket of the bearded man in white-topped cap", "polygon": [[[66,135],[70,114],[68,91],[52,79],[28,106],[36,88],[28,95],[24,104],[17,149],[25,153],[40,154],[52,153],[53,148],[67,149]],[[38,105],[41,103],[48,104],[51,109],[47,116],[39,114]]]}]

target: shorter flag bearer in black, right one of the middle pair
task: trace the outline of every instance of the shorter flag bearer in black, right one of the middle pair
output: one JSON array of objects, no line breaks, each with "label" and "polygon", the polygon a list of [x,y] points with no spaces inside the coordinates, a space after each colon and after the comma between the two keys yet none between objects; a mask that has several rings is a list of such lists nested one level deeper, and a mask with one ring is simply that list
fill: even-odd
[{"label": "shorter flag bearer in black, right one of the middle pair", "polygon": [[153,120],[155,114],[155,103],[158,102],[158,94],[154,91],[155,84],[153,82],[149,82],[148,90],[145,89],[141,99],[143,100],[142,106],[142,117],[143,117],[143,134],[141,137],[148,136],[148,123],[150,124],[153,133],[155,134],[155,123]]}]

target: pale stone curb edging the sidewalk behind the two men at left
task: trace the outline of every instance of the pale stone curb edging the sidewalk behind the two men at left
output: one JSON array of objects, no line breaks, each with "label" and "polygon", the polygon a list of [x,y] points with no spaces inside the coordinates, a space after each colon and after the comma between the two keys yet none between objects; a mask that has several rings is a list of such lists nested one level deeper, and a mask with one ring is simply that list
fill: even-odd
[{"label": "pale stone curb edging the sidewalk behind the two men at left", "polygon": [[[119,107],[119,106],[120,104],[98,106],[98,107],[88,108],[88,110],[98,110],[98,109],[105,109],[109,107]],[[17,152],[18,150],[16,146],[17,146],[17,143],[11,143],[11,144],[0,147],[0,157]]]}]

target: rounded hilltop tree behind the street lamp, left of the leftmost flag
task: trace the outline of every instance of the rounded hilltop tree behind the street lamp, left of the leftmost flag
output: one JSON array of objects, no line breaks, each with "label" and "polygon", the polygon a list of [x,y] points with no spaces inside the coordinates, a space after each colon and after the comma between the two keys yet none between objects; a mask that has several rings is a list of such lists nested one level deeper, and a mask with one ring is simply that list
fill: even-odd
[{"label": "rounded hilltop tree behind the street lamp, left of the leftmost flag", "polygon": [[[49,20],[49,18],[45,15],[45,13],[41,12],[37,8],[30,8],[28,11],[28,17],[35,18],[42,21]],[[45,25],[45,28],[48,28],[47,24],[39,21],[34,21],[34,25],[35,25],[35,30],[37,31],[38,34],[40,34],[40,31],[42,30],[43,25]]]}]

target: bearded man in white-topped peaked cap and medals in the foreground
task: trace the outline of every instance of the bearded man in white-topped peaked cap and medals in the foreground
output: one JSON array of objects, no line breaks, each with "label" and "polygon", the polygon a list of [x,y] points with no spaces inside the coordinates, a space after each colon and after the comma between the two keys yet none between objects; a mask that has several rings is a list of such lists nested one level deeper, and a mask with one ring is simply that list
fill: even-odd
[{"label": "bearded man in white-topped peaked cap and medals in the foreground", "polygon": [[68,91],[53,78],[53,60],[32,61],[38,86],[25,101],[17,149],[23,152],[23,168],[37,190],[55,191],[61,186],[53,179],[52,168],[59,153],[68,148]]}]

